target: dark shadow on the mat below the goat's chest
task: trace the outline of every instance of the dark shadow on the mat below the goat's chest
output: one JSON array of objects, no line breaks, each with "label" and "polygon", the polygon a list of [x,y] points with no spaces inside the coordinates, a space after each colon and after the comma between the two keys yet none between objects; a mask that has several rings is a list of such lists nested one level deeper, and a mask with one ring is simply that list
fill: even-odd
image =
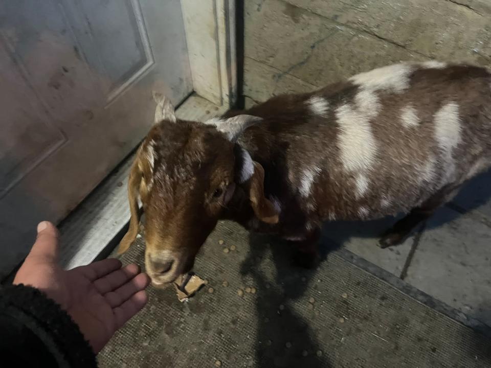
[{"label": "dark shadow on the mat below the goat's chest", "polygon": [[[294,267],[295,246],[269,236],[250,234],[250,251],[242,262],[240,272],[249,275],[257,285],[256,361],[261,368],[331,366],[315,338],[311,327],[300,316],[291,302],[299,300],[315,276],[315,271]],[[266,277],[258,264],[271,248],[275,265],[272,278]],[[275,282],[271,287],[269,280]],[[278,314],[280,318],[271,318]],[[276,341],[287,341],[279,344]]]}]

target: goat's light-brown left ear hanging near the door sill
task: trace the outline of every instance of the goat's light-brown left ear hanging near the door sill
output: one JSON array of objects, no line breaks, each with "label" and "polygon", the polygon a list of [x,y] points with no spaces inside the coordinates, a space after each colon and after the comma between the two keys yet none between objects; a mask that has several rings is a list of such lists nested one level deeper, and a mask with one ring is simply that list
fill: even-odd
[{"label": "goat's light-brown left ear hanging near the door sill", "polygon": [[141,215],[138,198],[141,197],[142,201],[144,201],[148,195],[153,176],[154,159],[153,146],[151,144],[147,144],[146,146],[143,144],[138,149],[135,161],[131,166],[128,178],[128,201],[131,217],[129,219],[128,231],[119,243],[118,254],[123,254],[128,250],[138,235]]}]

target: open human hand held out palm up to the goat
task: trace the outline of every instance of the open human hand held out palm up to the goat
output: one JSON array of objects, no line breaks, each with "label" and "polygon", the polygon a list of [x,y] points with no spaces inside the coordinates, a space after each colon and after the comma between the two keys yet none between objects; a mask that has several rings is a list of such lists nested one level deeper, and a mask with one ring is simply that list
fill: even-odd
[{"label": "open human hand held out palm up to the goat", "polygon": [[117,259],[63,270],[58,265],[58,231],[46,221],[38,225],[36,242],[14,279],[14,284],[33,286],[60,304],[95,353],[145,306],[149,282],[137,265],[122,267]]}]

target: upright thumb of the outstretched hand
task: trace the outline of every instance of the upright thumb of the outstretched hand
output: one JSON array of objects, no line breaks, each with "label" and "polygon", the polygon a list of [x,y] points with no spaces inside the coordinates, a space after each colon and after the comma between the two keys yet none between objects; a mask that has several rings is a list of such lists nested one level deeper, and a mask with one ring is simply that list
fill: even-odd
[{"label": "upright thumb of the outstretched hand", "polygon": [[56,263],[58,260],[58,236],[58,229],[55,225],[48,221],[40,222],[37,225],[36,242],[27,259]]}]

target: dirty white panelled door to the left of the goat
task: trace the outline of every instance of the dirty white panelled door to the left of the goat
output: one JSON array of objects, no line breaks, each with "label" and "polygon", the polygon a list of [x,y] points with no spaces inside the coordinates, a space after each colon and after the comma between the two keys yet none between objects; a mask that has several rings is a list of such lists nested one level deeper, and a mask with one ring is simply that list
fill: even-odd
[{"label": "dirty white panelled door to the left of the goat", "polygon": [[0,5],[0,278],[192,91],[178,0]]}]

